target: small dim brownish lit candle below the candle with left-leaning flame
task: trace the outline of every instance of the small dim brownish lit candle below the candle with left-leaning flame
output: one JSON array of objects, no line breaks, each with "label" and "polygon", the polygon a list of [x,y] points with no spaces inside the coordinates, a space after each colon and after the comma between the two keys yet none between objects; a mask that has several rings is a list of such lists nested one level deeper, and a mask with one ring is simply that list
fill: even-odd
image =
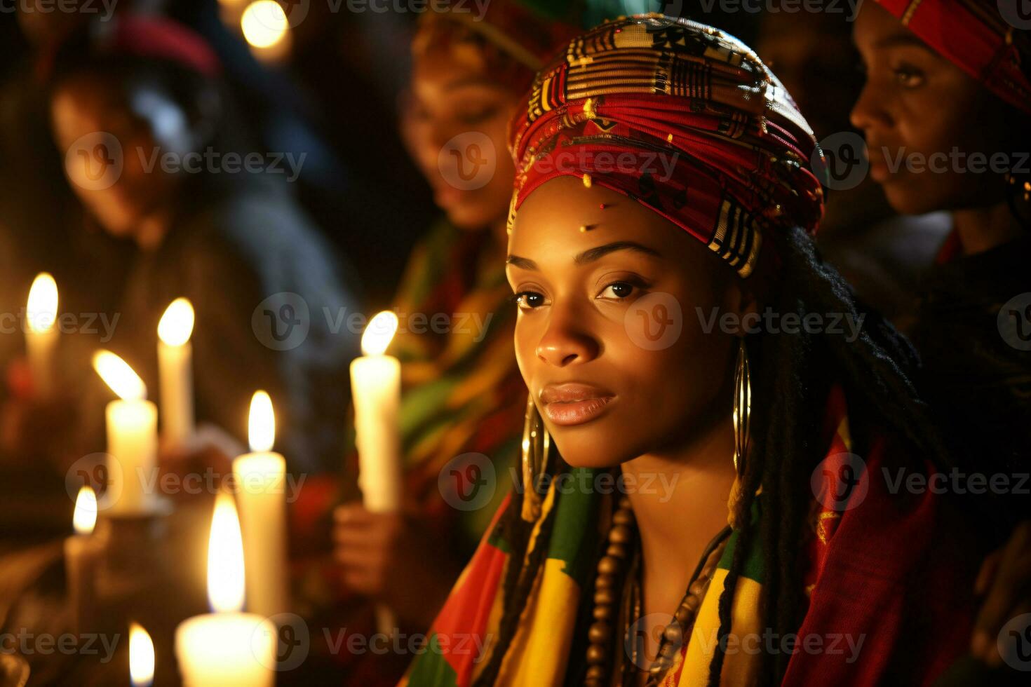
[{"label": "small dim brownish lit candle below the candle with left-leaning flame", "polygon": [[97,495],[89,486],[78,490],[72,525],[75,534],[65,540],[65,575],[68,586],[68,606],[72,611],[72,624],[76,633],[89,631],[94,619],[94,580],[100,547],[93,539],[97,524]]}]

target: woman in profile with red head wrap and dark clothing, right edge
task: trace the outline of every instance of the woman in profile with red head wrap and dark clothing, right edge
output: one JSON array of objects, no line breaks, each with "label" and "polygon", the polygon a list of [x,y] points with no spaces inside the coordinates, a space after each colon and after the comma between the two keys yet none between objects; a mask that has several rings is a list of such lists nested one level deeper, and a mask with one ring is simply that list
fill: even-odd
[{"label": "woman in profile with red head wrap and dark clothing, right edge", "polygon": [[[950,213],[912,339],[960,467],[993,484],[1026,475],[1031,446],[1031,40],[1005,12],[988,0],[865,3],[855,39],[867,78],[852,112],[892,207]],[[1003,535],[1031,513],[1026,489],[989,493]],[[1029,581],[1025,521],[978,578],[974,657],[1002,662],[1011,638],[999,632],[1027,613]],[[957,684],[987,679],[998,676]]]}]

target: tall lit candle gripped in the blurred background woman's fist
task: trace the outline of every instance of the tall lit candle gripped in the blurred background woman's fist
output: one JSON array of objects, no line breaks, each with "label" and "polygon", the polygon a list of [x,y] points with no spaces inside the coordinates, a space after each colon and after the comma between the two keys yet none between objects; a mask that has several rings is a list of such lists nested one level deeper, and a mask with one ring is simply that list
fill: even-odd
[{"label": "tall lit candle gripped in the blurred background woman's fist", "polygon": [[[362,335],[362,353],[351,364],[351,392],[355,405],[355,442],[358,445],[358,486],[372,513],[401,508],[401,447],[398,406],[401,404],[401,363],[385,351],[397,332],[397,315],[384,311]],[[379,632],[394,631],[394,615],[375,609]]]}]

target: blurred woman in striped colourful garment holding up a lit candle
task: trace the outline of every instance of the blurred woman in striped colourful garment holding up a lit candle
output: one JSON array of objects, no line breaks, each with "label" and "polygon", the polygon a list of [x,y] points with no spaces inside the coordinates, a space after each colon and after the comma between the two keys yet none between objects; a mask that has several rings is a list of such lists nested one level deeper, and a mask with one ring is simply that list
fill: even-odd
[{"label": "blurred woman in striped colourful garment holding up a lit candle", "polygon": [[[402,364],[408,511],[374,514],[353,501],[335,511],[333,531],[345,589],[387,604],[402,627],[429,625],[517,466],[526,387],[504,276],[514,178],[505,128],[534,70],[577,30],[572,12],[507,0],[492,2],[483,21],[459,6],[427,11],[412,41],[403,137],[444,217],[410,254],[392,302],[402,328],[390,352]],[[445,327],[420,328],[435,316]],[[466,487],[438,478],[477,461],[494,467],[494,497],[462,510]]]}]

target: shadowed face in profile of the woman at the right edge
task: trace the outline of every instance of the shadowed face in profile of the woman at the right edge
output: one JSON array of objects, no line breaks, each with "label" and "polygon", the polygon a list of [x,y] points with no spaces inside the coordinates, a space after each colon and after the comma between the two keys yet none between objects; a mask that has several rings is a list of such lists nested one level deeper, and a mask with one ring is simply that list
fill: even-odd
[{"label": "shadowed face in profile of the woman at the right edge", "polygon": [[1001,174],[970,168],[971,153],[1015,152],[1004,147],[999,100],[877,5],[863,5],[855,40],[867,80],[852,122],[892,207],[916,214],[1001,201]]}]

